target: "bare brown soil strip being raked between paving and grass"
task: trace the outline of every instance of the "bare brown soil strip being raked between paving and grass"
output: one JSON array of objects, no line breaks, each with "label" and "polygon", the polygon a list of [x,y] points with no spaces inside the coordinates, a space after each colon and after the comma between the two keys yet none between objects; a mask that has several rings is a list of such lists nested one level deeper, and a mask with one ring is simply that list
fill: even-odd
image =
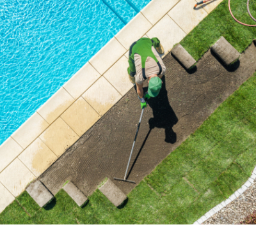
[{"label": "bare brown soil strip being raked between paving and grass", "polygon": [[[256,47],[252,44],[231,68],[211,50],[191,73],[171,54],[163,61],[167,68],[163,88],[148,101],[131,159],[129,180],[137,184],[255,72]],[[53,194],[72,180],[90,195],[105,177],[123,178],[140,113],[140,101],[131,89],[39,179]],[[135,186],[113,182],[125,194]]]}]

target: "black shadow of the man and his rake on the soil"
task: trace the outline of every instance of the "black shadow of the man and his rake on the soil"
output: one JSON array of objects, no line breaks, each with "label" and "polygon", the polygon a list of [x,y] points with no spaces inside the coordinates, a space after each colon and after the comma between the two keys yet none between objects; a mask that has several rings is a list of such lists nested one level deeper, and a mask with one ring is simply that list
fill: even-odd
[{"label": "black shadow of the man and his rake on the soil", "polygon": [[[147,142],[148,136],[151,133],[152,129],[155,127],[157,128],[163,128],[165,130],[165,142],[167,143],[175,143],[177,140],[176,133],[173,131],[172,127],[177,124],[178,118],[175,114],[175,112],[172,109],[172,106],[170,106],[170,103],[168,101],[167,91],[166,91],[166,83],[165,83],[165,76],[162,78],[163,84],[161,91],[159,92],[158,96],[156,98],[150,98],[147,103],[150,108],[153,110],[153,116],[148,120],[149,124],[149,131],[140,147],[140,150],[134,159],[134,162],[132,163],[131,169],[129,170],[129,173],[127,175],[127,178],[129,177],[132,168],[134,167],[136,161],[138,160],[138,157],[140,156],[141,150],[143,149],[145,143]],[[136,90],[136,85],[134,85],[134,89]],[[148,87],[143,87],[144,93],[147,92]],[[148,107],[147,106],[147,107]]]}]

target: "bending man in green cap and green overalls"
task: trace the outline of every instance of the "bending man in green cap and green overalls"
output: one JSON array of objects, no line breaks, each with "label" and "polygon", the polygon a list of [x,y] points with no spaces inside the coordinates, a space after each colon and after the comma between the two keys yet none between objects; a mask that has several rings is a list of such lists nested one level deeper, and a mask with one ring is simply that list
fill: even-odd
[{"label": "bending man in green cap and green overalls", "polygon": [[[158,38],[141,38],[129,50],[129,79],[136,83],[141,109],[147,107],[145,99],[156,97],[162,87],[161,78],[166,71],[164,63],[157,54],[163,54],[163,46]],[[148,92],[143,92],[143,82],[148,79]]]}]

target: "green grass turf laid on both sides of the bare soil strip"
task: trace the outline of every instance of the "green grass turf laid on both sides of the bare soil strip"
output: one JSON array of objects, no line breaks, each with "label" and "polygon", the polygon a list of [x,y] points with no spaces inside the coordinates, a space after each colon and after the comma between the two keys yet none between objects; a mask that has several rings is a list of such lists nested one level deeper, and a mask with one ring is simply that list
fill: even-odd
[{"label": "green grass turf laid on both sides of the bare soil strip", "polygon": [[[246,15],[246,1],[232,0],[231,5],[237,18],[251,22]],[[255,11],[252,8],[253,15]],[[232,20],[227,0],[181,44],[197,60],[220,36],[239,52],[256,36],[254,27],[244,27]],[[40,208],[25,191],[0,214],[0,224],[195,222],[239,189],[256,164],[255,86],[256,74],[129,193],[124,208],[114,207],[99,190],[89,196],[84,208],[77,207],[63,190],[47,208]]]}]

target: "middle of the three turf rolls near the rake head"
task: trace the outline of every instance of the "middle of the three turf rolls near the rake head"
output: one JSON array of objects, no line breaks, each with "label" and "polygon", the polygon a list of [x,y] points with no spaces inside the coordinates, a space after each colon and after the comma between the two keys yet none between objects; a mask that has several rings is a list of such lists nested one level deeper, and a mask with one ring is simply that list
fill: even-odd
[{"label": "middle of the three turf rolls near the rake head", "polygon": [[67,194],[74,200],[79,207],[83,206],[88,198],[81,192],[76,185],[74,185],[71,181],[69,181],[63,187],[63,190],[67,192]]}]

